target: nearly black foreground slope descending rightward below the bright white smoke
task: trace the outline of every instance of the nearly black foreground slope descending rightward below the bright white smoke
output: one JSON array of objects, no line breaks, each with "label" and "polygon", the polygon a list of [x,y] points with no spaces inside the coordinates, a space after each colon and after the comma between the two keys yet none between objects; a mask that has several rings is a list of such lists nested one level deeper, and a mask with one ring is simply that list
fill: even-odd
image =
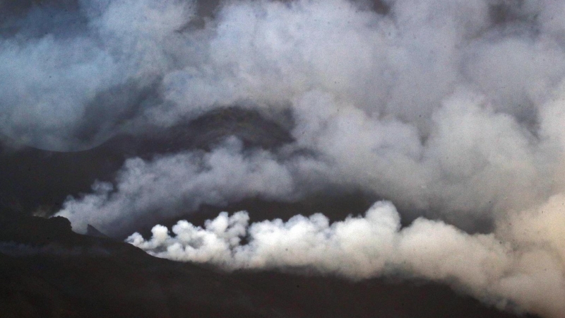
[{"label": "nearly black foreground slope descending rightward below the bright white smoke", "polygon": [[431,283],[219,273],[64,218],[0,222],[1,317],[513,317]]}]

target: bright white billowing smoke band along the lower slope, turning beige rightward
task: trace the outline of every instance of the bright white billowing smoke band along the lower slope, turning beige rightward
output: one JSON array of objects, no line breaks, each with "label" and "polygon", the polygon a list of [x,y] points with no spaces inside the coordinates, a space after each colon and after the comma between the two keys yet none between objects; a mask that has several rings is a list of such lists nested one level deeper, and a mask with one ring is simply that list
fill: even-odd
[{"label": "bright white billowing smoke band along the lower slope, turning beige rightward", "polygon": [[[321,214],[249,225],[246,212],[223,212],[204,228],[186,220],[172,233],[156,225],[149,240],[127,242],[157,257],[222,269],[279,269],[355,280],[403,275],[450,283],[501,309],[544,317],[565,312],[565,196],[518,213],[491,234],[469,235],[418,218],[400,228],[396,208],[377,202],[364,217],[330,224]],[[247,240],[242,244],[242,238]]]}]

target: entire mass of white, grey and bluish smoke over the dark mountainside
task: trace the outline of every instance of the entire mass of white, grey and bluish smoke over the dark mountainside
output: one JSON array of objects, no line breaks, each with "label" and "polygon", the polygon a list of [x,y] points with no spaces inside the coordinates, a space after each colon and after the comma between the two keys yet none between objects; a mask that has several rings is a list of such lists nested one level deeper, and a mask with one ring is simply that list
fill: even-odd
[{"label": "entire mass of white, grey and bluish smoke over the dark mountainside", "polygon": [[[346,0],[226,1],[201,28],[192,1],[34,8],[0,40],[0,132],[76,150],[230,105],[289,112],[291,143],[228,138],[208,152],[130,158],[114,184],[98,182],[58,215],[112,234],[203,204],[362,189],[394,206],[333,224],[314,215],[249,225],[243,212],[222,213],[206,228],[181,221],[172,236],[157,225],[149,240],[128,240],[230,270],[429,278],[563,317],[565,4],[384,4],[386,13]],[[440,220],[400,228],[395,206]],[[457,228],[484,218],[489,234]]]}]

